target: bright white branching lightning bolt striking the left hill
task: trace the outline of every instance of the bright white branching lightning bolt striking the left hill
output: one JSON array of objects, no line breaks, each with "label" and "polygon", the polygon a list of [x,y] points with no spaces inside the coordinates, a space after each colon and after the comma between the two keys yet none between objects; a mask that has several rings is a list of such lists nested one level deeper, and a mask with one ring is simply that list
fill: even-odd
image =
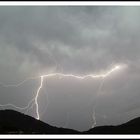
[{"label": "bright white branching lightning bolt striking the left hill", "polygon": [[[120,68],[121,68],[121,66],[117,65],[117,66],[114,66],[111,70],[109,70],[106,73],[103,73],[103,74],[89,74],[89,75],[84,75],[84,76],[73,75],[73,74],[63,74],[63,73],[50,73],[50,74],[47,74],[47,75],[45,74],[45,75],[41,75],[41,76],[38,76],[38,77],[28,78],[28,79],[26,79],[26,80],[24,80],[24,81],[22,81],[18,84],[13,84],[13,85],[3,85],[3,84],[1,84],[4,87],[18,87],[18,86],[21,86],[22,84],[24,84],[25,82],[27,82],[28,80],[40,78],[40,85],[39,85],[39,87],[36,91],[35,97],[30,100],[30,102],[28,103],[27,106],[18,107],[18,106],[13,105],[13,104],[5,104],[5,105],[0,104],[0,106],[1,107],[12,106],[12,107],[15,107],[16,109],[20,109],[20,110],[26,110],[26,109],[29,110],[29,107],[31,108],[35,105],[36,106],[36,119],[39,120],[40,119],[40,114],[39,114],[38,97],[39,97],[40,91],[43,87],[44,78],[59,76],[59,77],[72,77],[72,78],[76,78],[76,79],[79,79],[79,80],[84,80],[86,78],[103,78],[104,79],[105,77],[109,76],[111,73],[119,70]],[[101,87],[100,87],[100,89],[101,89]],[[94,119],[94,122],[96,124],[95,112],[93,113],[93,119]]]}]

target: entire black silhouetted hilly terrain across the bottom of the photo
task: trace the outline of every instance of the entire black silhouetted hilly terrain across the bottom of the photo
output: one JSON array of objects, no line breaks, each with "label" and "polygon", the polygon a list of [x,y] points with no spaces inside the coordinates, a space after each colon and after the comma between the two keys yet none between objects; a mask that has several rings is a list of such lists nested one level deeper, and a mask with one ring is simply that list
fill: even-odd
[{"label": "entire black silhouetted hilly terrain across the bottom of the photo", "polygon": [[17,111],[1,110],[0,134],[140,134],[140,118],[118,126],[100,126],[78,132],[50,126]]}]

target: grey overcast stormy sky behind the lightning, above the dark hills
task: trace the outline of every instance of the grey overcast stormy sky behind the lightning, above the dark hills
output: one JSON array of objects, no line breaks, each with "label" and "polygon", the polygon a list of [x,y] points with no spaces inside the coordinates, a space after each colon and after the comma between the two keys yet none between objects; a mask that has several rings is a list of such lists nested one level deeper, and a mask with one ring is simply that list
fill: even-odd
[{"label": "grey overcast stormy sky behind the lightning, above the dark hills", "polygon": [[[17,84],[54,72],[99,74],[125,65],[105,79],[98,98],[102,79],[45,79],[38,99],[40,116],[50,125],[80,131],[91,128],[95,103],[97,125],[136,118],[140,116],[139,15],[139,6],[1,6],[0,82]],[[26,106],[39,80],[17,88],[1,85],[0,103]],[[26,113],[35,117],[35,107]]]}]

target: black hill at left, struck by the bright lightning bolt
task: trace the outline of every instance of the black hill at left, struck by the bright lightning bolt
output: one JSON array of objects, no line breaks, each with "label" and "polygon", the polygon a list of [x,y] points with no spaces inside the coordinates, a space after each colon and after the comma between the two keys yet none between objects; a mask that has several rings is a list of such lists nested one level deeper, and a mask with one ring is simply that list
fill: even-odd
[{"label": "black hill at left, struck by the bright lightning bolt", "polygon": [[14,110],[0,111],[0,134],[77,134],[78,131],[50,126]]}]

